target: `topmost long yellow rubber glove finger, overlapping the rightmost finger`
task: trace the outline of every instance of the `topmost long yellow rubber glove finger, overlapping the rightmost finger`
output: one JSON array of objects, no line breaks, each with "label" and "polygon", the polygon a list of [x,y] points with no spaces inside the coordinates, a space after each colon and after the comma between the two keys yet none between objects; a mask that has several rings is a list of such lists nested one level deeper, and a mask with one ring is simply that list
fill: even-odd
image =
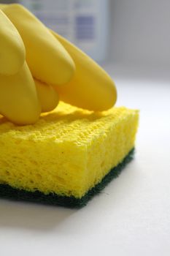
[{"label": "topmost long yellow rubber glove finger, overlapping the rightmost finger", "polygon": [[74,61],[58,39],[22,5],[8,4],[1,9],[23,39],[34,78],[53,85],[69,82],[74,75]]}]

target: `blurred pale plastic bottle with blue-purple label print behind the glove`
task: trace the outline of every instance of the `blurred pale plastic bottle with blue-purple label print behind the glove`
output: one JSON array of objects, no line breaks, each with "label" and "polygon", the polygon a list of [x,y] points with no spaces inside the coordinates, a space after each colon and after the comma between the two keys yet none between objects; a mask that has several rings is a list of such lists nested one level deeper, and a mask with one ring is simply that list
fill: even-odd
[{"label": "blurred pale plastic bottle with blue-purple label print behind the glove", "polygon": [[107,57],[109,0],[20,0],[50,29],[98,62]]}]

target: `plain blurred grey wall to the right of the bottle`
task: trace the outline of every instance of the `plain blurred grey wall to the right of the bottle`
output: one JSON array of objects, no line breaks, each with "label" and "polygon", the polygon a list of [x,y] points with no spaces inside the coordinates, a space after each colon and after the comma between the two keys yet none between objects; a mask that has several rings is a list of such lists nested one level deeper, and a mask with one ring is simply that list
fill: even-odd
[{"label": "plain blurred grey wall to the right of the bottle", "polygon": [[170,1],[110,0],[110,5],[112,61],[170,67]]}]

